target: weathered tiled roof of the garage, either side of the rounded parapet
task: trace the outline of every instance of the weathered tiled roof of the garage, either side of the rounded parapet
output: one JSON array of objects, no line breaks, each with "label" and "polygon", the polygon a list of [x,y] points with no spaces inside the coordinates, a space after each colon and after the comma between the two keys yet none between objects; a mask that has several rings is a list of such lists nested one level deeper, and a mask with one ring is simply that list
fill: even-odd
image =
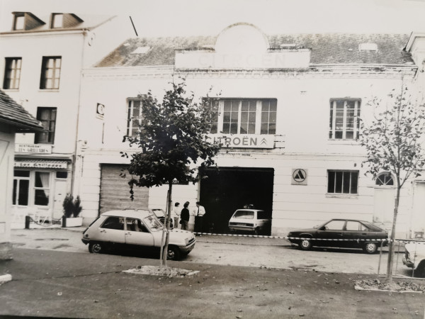
[{"label": "weathered tiled roof of the garage, either side of the rounded parapet", "polygon": [[[106,56],[96,67],[138,67],[174,65],[175,50],[213,48],[217,37],[131,38]],[[288,34],[269,35],[273,50],[282,45],[311,49],[312,65],[412,64],[411,55],[404,51],[407,34]],[[360,51],[361,43],[375,43],[378,51]],[[145,54],[132,54],[138,47],[150,47]]]}]

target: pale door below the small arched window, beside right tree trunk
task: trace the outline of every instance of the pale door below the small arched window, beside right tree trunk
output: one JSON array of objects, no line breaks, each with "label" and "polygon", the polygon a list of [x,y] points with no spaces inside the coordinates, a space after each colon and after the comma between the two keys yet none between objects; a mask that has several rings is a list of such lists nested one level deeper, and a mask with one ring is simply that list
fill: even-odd
[{"label": "pale door below the small arched window, beside right tree trunk", "polygon": [[373,223],[392,223],[395,190],[375,188]]}]

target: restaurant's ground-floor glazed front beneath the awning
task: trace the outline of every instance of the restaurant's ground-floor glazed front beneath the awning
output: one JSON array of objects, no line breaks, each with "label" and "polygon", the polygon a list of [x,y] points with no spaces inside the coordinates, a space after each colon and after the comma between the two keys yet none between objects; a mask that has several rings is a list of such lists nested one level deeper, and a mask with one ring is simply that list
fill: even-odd
[{"label": "restaurant's ground-floor glazed front beneath the awning", "polygon": [[50,172],[13,172],[12,204],[16,206],[49,206]]}]

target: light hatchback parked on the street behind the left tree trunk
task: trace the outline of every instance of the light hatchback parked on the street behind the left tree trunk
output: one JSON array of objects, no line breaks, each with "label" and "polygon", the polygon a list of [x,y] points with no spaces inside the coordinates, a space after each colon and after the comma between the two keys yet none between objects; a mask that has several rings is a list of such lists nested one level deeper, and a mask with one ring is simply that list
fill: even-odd
[{"label": "light hatchback parked on the street behind the left tree trunk", "polygon": [[[164,225],[150,209],[108,211],[98,216],[84,230],[84,244],[89,252],[105,250],[161,250]],[[170,230],[167,259],[177,260],[195,247],[195,236],[186,230]]]}]

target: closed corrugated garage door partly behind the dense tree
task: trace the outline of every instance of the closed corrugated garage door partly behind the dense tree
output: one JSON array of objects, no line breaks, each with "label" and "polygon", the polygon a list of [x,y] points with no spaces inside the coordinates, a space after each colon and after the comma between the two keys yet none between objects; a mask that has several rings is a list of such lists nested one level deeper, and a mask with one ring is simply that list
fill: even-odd
[{"label": "closed corrugated garage door partly behind the dense tree", "polygon": [[149,203],[149,190],[147,187],[136,187],[135,199],[130,199],[130,186],[128,180],[120,177],[123,165],[101,165],[101,207],[100,212],[105,213],[113,209],[147,208]]}]

